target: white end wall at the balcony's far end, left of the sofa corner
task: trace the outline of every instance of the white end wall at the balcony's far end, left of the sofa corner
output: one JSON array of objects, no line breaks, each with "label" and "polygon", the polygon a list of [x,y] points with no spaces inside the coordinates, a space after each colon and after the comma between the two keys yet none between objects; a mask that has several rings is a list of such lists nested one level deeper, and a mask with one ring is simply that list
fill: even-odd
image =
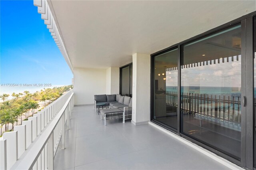
[{"label": "white end wall at the balcony's far end, left of the sofa corner", "polygon": [[74,68],[75,105],[93,104],[94,95],[106,94],[106,69]]}]

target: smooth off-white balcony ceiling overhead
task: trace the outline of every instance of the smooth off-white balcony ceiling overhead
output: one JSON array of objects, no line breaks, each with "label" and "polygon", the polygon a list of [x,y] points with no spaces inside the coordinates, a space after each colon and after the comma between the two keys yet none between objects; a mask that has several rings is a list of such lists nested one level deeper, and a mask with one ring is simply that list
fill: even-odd
[{"label": "smooth off-white balcony ceiling overhead", "polygon": [[73,67],[120,67],[256,10],[256,1],[48,0]]}]

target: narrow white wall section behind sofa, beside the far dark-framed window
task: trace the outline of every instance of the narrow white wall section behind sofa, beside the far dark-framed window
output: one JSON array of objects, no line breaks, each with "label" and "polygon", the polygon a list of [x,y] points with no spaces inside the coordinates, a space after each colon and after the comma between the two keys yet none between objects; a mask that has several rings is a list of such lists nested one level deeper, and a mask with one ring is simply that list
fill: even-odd
[{"label": "narrow white wall section behind sofa, beside the far dark-framed window", "polygon": [[106,94],[119,94],[119,67],[106,69]]}]

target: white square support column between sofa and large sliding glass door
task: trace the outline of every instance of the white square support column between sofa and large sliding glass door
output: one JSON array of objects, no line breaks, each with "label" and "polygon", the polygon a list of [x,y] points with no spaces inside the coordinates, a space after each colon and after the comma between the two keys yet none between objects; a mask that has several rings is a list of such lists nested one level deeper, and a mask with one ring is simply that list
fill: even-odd
[{"label": "white square support column between sofa and large sliding glass door", "polygon": [[132,55],[132,123],[150,121],[150,55]]}]

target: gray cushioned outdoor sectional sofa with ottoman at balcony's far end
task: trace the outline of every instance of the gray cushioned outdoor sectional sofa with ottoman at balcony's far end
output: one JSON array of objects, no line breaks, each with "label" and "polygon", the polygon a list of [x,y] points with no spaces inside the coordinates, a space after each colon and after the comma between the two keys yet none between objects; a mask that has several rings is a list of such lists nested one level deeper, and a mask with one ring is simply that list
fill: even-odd
[{"label": "gray cushioned outdoor sectional sofa with ottoman at balcony's far end", "polygon": [[105,103],[105,107],[109,109],[102,109],[100,111],[100,119],[132,119],[132,98],[121,95],[94,95],[94,108],[96,111],[97,103]]}]

